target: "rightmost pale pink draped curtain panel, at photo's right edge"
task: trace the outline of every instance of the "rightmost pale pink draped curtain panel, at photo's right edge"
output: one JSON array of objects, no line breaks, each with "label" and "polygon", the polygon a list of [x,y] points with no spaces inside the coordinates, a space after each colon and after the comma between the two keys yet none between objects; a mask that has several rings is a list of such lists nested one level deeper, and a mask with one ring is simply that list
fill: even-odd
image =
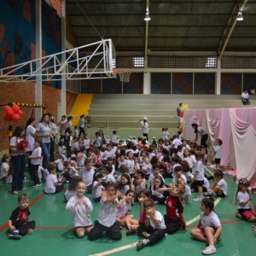
[{"label": "rightmost pale pink draped curtain panel, at photo's right edge", "polygon": [[256,174],[256,108],[230,108],[237,177]]}]

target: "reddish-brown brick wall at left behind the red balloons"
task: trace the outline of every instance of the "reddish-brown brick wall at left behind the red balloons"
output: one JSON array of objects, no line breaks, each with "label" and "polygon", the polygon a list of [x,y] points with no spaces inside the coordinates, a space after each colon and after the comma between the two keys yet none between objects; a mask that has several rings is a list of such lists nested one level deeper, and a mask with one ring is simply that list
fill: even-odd
[{"label": "reddish-brown brick wall at left behind the red balloons", "polygon": [[[0,105],[9,102],[35,103],[34,83],[0,83]],[[58,103],[61,102],[61,90],[43,86],[43,104],[46,111],[52,113],[57,118]],[[17,125],[26,125],[26,120],[30,118],[32,109],[20,107],[23,116],[13,124],[13,130]],[[9,149],[9,122],[3,120],[3,107],[0,108],[0,156]]]}]

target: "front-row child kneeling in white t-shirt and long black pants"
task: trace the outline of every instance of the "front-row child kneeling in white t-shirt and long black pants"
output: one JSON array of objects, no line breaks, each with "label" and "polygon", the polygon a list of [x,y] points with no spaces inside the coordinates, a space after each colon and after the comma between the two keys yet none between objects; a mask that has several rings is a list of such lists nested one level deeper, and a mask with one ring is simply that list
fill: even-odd
[{"label": "front-row child kneeling in white t-shirt and long black pants", "polygon": [[103,232],[106,232],[106,236],[113,240],[122,238],[119,225],[116,223],[116,207],[119,202],[117,186],[115,183],[108,182],[105,189],[101,199],[99,217],[88,234],[88,239],[91,241],[102,237]]}]

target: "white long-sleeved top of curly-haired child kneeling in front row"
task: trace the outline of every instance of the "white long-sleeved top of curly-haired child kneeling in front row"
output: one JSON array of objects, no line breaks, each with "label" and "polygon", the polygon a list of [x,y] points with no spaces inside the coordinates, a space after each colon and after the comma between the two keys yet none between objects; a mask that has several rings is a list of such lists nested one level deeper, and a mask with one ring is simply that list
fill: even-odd
[{"label": "white long-sleeved top of curly-haired child kneeling in front row", "polygon": [[[81,199],[80,199],[81,200]],[[84,204],[77,204],[78,198],[74,195],[68,202],[66,209],[73,213],[73,226],[86,227],[92,224],[90,219],[90,212],[93,210],[92,204],[87,197],[83,197]]]}]

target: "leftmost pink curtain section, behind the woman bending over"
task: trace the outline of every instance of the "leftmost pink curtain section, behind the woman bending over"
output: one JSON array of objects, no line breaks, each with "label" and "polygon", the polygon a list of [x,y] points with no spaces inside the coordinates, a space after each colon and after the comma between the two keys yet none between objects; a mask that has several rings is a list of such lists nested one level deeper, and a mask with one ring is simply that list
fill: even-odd
[{"label": "leftmost pink curtain section, behind the woman bending over", "polygon": [[207,129],[206,110],[188,109],[183,115],[183,137],[189,141],[195,140],[195,131],[191,125],[195,123]]}]

